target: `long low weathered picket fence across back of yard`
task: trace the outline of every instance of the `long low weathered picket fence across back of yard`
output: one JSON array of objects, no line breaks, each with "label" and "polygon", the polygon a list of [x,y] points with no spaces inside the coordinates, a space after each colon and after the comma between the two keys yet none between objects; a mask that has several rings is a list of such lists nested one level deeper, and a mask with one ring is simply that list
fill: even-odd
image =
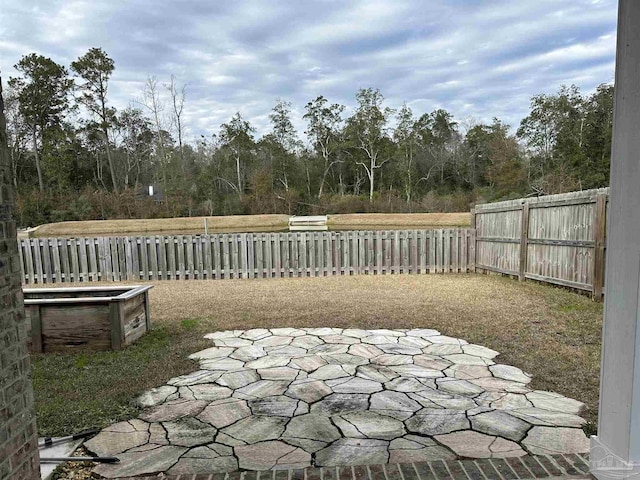
[{"label": "long low weathered picket fence across back of yard", "polygon": [[20,240],[25,284],[474,270],[474,230]]}]

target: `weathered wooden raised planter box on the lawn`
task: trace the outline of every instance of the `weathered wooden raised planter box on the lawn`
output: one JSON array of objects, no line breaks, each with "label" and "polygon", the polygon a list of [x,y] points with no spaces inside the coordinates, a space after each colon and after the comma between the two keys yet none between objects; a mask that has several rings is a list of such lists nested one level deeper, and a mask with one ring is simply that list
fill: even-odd
[{"label": "weathered wooden raised planter box on the lawn", "polygon": [[151,328],[152,287],[25,288],[31,351],[118,350],[132,344]]}]

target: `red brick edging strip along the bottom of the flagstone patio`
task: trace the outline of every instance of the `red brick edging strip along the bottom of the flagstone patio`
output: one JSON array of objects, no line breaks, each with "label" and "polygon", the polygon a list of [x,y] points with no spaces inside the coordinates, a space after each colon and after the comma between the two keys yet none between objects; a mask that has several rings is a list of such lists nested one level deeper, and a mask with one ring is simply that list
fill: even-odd
[{"label": "red brick edging strip along the bottom of the flagstone patio", "polygon": [[509,458],[434,460],[404,464],[320,467],[128,477],[126,480],[526,480],[592,478],[588,454],[525,455]]}]

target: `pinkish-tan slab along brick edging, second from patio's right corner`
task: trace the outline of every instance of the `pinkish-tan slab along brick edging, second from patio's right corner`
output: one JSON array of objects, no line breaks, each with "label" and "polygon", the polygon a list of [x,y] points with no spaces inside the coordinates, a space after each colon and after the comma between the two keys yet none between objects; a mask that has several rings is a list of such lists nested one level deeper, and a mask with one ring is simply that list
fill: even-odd
[{"label": "pinkish-tan slab along brick edging, second from patio's right corner", "polygon": [[461,457],[503,458],[526,455],[517,443],[473,431],[438,435],[435,439]]}]

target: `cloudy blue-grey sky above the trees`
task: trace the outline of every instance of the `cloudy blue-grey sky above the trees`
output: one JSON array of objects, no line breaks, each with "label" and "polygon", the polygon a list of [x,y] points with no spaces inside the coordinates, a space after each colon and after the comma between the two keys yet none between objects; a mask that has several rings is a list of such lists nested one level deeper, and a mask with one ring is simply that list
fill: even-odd
[{"label": "cloudy blue-grey sky above the trees", "polygon": [[614,75],[615,0],[0,0],[0,73],[37,52],[68,66],[90,47],[115,61],[110,101],[145,79],[187,84],[189,137],[234,112],[258,133],[277,98],[353,107],[362,87],[391,107],[445,108],[462,124],[517,127],[529,100]]}]

